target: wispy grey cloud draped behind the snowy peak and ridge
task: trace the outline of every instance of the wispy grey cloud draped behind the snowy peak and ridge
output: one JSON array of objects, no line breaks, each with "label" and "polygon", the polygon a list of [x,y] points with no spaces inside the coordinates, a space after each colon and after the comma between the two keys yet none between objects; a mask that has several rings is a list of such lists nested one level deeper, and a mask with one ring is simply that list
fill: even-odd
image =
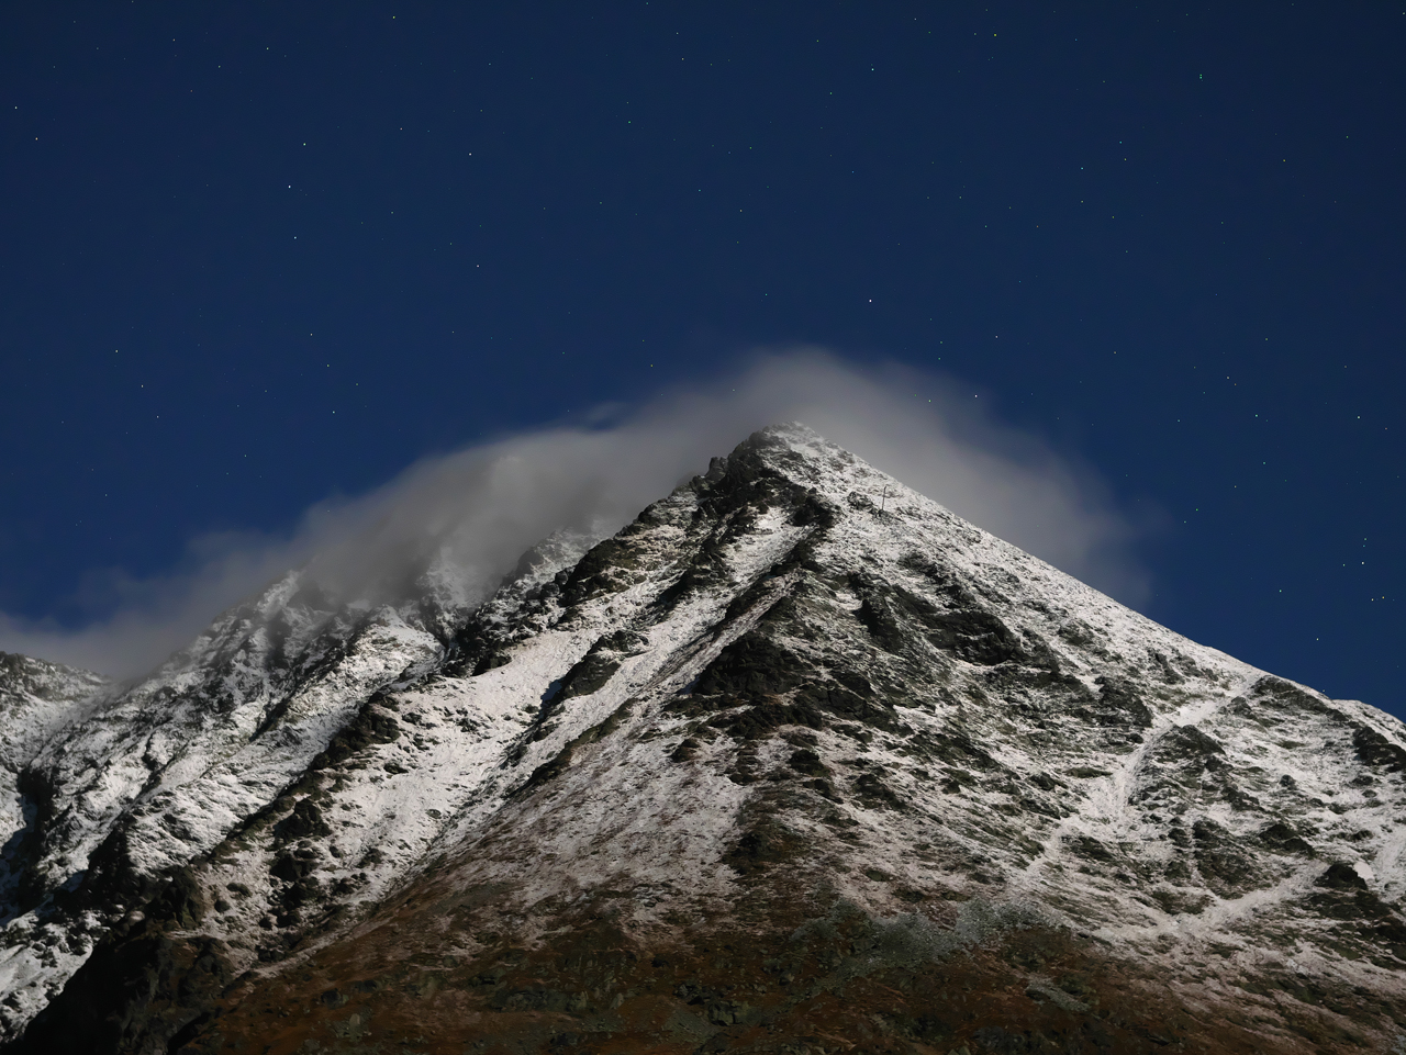
[{"label": "wispy grey cloud draped behind the snowy peak and ridge", "polygon": [[950,378],[792,350],[633,410],[605,407],[589,427],[544,427],[426,458],[367,494],[312,506],[281,537],[195,539],[165,576],[101,576],[114,610],[89,627],[0,614],[0,649],[142,673],[297,566],[337,600],[373,603],[422,589],[430,568],[441,593],[472,603],[553,531],[609,534],[710,457],[790,420],[1128,604],[1149,596],[1136,532],[1091,468],[1001,424]]}]

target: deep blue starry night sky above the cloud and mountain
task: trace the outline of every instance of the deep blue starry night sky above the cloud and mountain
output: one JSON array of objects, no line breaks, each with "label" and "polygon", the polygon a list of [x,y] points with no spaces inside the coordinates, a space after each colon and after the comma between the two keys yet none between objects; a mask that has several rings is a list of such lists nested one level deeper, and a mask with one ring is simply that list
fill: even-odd
[{"label": "deep blue starry night sky above the cloud and mountain", "polygon": [[1406,716],[1402,7],[10,4],[0,610],[808,343]]}]

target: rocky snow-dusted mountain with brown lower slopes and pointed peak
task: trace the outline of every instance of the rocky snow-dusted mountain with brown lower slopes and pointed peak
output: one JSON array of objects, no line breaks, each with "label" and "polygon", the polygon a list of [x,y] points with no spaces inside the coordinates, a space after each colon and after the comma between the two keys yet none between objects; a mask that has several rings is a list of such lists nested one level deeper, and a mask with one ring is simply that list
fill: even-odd
[{"label": "rocky snow-dusted mountain with brown lower slopes and pointed peak", "polygon": [[6,659],[3,1051],[1406,1051],[1402,723],[804,427],[437,596]]}]

